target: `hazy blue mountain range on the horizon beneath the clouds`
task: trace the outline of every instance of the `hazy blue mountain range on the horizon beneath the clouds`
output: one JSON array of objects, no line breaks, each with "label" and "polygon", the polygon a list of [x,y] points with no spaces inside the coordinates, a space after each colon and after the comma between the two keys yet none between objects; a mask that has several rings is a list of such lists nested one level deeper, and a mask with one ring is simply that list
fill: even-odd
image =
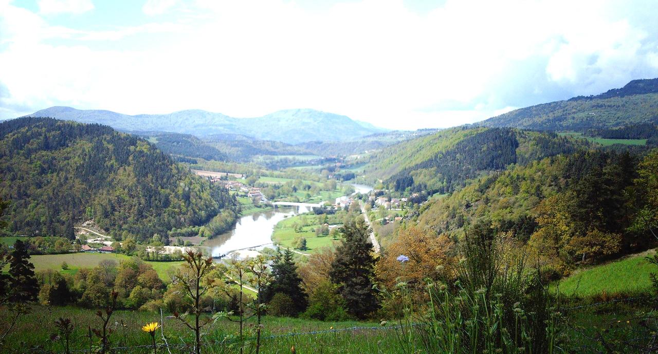
[{"label": "hazy blue mountain range on the horizon beneath the clouds", "polygon": [[248,136],[293,144],[307,141],[346,140],[387,131],[347,116],[313,109],[290,109],[257,118],[234,118],[201,110],[131,116],[112,111],[50,107],[28,116],[47,116],[83,123],[105,124],[126,132],[159,131],[192,134],[199,137],[214,134]]}]

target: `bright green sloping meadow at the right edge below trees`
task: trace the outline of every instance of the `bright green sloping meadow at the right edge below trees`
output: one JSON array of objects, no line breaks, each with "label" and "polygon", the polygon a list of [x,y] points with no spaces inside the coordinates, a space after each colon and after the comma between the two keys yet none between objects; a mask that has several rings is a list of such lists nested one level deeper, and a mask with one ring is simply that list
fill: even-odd
[{"label": "bright green sloping meadow at the right edge below trees", "polygon": [[603,291],[608,294],[647,291],[651,288],[649,274],[658,273],[658,267],[647,263],[644,257],[653,253],[655,251],[649,251],[577,271],[559,282],[560,292],[592,296]]}]

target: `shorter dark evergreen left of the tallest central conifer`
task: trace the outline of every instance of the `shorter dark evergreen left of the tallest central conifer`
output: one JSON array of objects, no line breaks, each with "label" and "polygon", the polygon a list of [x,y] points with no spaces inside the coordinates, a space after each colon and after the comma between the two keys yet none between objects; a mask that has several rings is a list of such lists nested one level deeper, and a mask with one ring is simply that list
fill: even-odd
[{"label": "shorter dark evergreen left of the tallest central conifer", "polygon": [[297,265],[293,261],[290,249],[276,255],[274,264],[272,264],[272,276],[274,276],[274,280],[264,291],[265,301],[271,301],[276,293],[283,293],[292,299],[294,309],[291,309],[290,313],[297,315],[303,312],[307,307],[308,300],[306,293],[301,288],[301,278],[297,274]]}]

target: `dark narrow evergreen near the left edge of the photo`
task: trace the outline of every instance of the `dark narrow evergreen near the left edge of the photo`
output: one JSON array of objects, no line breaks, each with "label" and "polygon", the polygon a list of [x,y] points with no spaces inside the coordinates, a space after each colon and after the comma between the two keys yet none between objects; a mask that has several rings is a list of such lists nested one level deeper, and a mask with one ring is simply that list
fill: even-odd
[{"label": "dark narrow evergreen near the left edge of the photo", "polygon": [[39,293],[34,265],[30,263],[28,246],[16,240],[14,250],[9,255],[9,275],[11,275],[11,300],[15,302],[34,301]]}]

